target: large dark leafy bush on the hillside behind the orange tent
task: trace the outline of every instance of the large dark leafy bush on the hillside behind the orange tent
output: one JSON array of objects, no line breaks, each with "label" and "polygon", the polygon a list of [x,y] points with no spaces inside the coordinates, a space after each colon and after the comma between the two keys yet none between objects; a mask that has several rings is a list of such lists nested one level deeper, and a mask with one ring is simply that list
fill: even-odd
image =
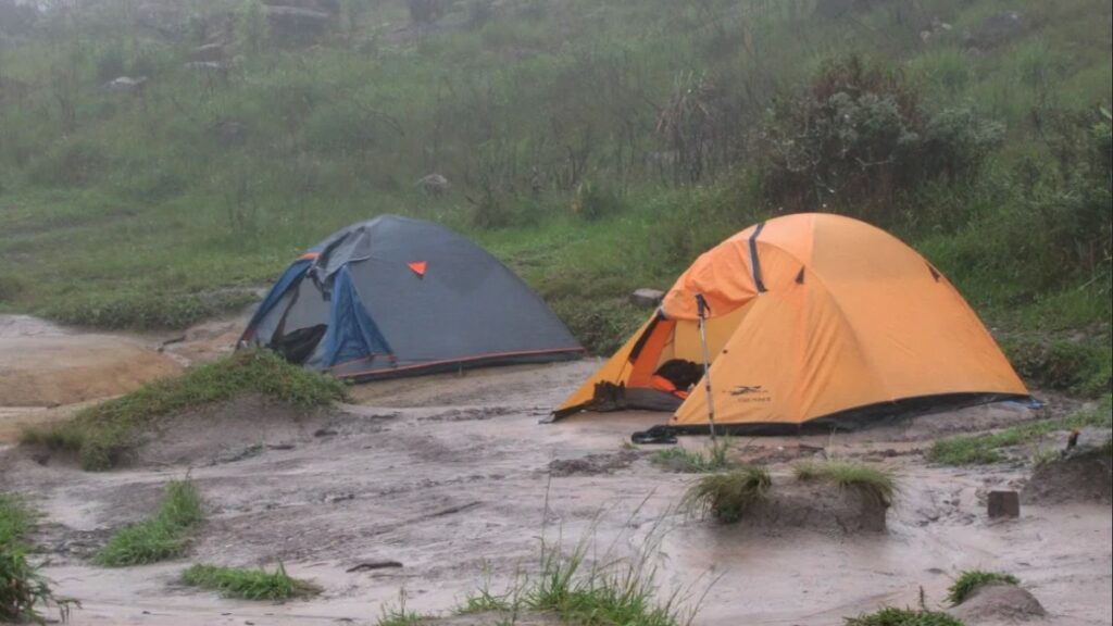
[{"label": "large dark leafy bush on the hillside behind the orange tent", "polygon": [[1002,131],[969,107],[928,114],[895,69],[831,60],[809,90],[768,111],[762,189],[788,211],[830,205],[892,224],[898,200],[924,183],[973,179]]}]

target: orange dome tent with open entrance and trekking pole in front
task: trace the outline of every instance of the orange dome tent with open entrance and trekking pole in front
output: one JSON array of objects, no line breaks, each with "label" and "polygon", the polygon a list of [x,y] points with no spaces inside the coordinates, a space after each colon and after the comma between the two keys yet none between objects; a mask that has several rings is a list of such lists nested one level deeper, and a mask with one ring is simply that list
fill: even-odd
[{"label": "orange dome tent with open entrance and trekking pole in front", "polygon": [[[963,296],[914,250],[856,219],[797,214],[701,255],[554,417],[613,409],[604,400],[653,389],[658,368],[671,360],[702,363],[697,295],[709,307],[716,424],[795,430],[1027,395]],[[671,426],[707,427],[705,382]]]}]

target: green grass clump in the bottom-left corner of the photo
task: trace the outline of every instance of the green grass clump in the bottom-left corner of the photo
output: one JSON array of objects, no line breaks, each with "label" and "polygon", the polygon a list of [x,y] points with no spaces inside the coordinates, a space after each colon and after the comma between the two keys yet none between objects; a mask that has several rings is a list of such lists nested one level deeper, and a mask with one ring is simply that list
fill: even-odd
[{"label": "green grass clump in the bottom-left corner of the photo", "polygon": [[0,623],[46,624],[43,609],[53,607],[58,618],[69,619],[80,603],[55,596],[51,581],[27,558],[30,547],[24,544],[31,527],[32,512],[22,499],[0,493]]}]

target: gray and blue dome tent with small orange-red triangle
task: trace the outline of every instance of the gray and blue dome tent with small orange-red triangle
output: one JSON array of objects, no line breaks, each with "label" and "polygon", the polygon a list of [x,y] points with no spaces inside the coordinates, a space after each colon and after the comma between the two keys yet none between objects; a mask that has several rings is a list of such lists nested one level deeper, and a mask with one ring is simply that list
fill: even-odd
[{"label": "gray and blue dome tent with small orange-red triangle", "polygon": [[356,380],[583,353],[493,256],[447,228],[396,215],[348,226],[297,258],[240,343]]}]

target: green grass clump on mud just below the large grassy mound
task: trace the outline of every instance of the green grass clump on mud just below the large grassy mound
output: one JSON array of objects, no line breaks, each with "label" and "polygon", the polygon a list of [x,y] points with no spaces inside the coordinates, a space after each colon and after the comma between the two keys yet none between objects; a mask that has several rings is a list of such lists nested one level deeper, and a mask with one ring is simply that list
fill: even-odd
[{"label": "green grass clump on mud just below the large grassy mound", "polygon": [[117,530],[93,560],[106,567],[128,567],[179,557],[204,518],[197,488],[187,480],[171,481],[155,516]]}]

